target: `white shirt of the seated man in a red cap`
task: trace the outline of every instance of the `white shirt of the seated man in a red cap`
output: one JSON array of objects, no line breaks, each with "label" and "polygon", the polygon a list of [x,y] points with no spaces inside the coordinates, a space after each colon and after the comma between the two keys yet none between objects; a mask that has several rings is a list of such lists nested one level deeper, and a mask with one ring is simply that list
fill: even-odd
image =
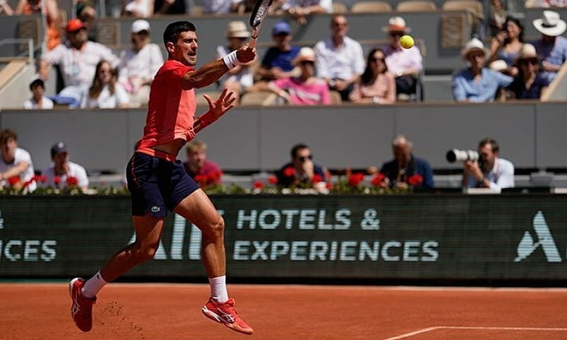
[{"label": "white shirt of the seated man in a red cap", "polygon": [[61,44],[42,56],[42,60],[52,65],[59,65],[65,86],[88,87],[95,78],[95,71],[100,60],[105,59],[118,66],[119,59],[105,45],[98,42],[85,42],[78,50]]}]

